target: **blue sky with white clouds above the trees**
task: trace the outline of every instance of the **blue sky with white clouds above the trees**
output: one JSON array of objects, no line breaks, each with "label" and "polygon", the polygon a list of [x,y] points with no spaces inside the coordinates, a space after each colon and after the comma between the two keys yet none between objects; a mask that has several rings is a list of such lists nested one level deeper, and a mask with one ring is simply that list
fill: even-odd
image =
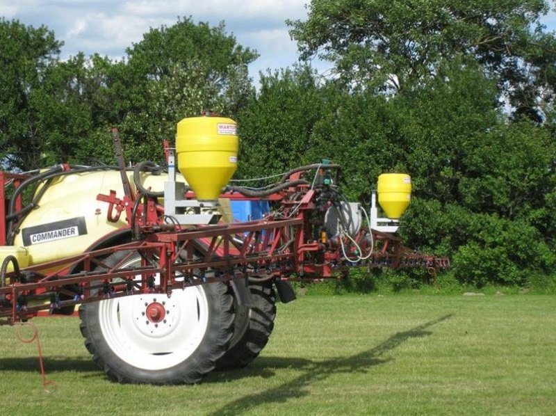
[{"label": "blue sky with white clouds above the trees", "polygon": [[[309,0],[0,0],[0,16],[31,26],[44,24],[63,40],[62,58],[83,51],[113,59],[126,47],[140,42],[149,28],[171,26],[177,17],[216,26],[224,21],[244,47],[256,49],[259,58],[250,65],[255,82],[259,71],[277,70],[297,62],[297,45],[288,35],[286,19],[306,19]],[[388,1],[388,0],[386,0]],[[550,0],[552,8],[555,1]],[[556,12],[543,19],[556,31]],[[319,72],[329,65],[313,63]]]}]

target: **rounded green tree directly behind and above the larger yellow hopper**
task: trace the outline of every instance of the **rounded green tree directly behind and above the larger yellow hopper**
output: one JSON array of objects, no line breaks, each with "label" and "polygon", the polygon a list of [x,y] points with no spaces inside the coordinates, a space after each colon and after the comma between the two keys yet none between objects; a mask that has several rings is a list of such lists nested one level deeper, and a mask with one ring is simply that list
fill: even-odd
[{"label": "rounded green tree directly behind and above the larger yellow hopper", "polygon": [[179,19],[151,29],[111,68],[108,93],[130,160],[155,159],[186,116],[213,110],[236,118],[254,88],[247,65],[255,51],[237,45],[224,24],[210,27]]}]

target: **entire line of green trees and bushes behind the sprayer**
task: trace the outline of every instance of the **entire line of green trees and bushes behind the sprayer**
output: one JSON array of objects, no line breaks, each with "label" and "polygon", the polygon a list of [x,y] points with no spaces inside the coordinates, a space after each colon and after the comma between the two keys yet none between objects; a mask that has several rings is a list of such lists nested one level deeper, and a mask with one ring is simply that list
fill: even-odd
[{"label": "entire line of green trees and bushes behind the sprayer", "polygon": [[[161,159],[183,117],[238,121],[238,177],[332,159],[368,204],[379,173],[413,178],[407,246],[449,256],[459,282],[528,285],[556,274],[556,37],[541,0],[313,0],[287,24],[300,63],[260,74],[224,24],[150,29],[121,61],[60,60],[46,27],[0,21],[0,155],[30,170]],[[323,77],[311,59],[332,65]]]}]

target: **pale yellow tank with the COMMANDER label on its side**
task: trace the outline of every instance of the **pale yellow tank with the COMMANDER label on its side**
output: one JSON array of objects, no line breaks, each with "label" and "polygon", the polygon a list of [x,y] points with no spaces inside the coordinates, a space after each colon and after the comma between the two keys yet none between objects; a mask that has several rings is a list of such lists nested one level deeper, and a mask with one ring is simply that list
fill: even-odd
[{"label": "pale yellow tank with the COMMANDER label on its side", "polygon": [[[142,173],[141,177],[143,186],[153,191],[163,190],[167,180],[166,175]],[[132,172],[128,179],[134,189]],[[32,266],[79,255],[106,234],[127,225],[125,211],[116,223],[111,223],[107,219],[108,202],[97,200],[99,193],[108,195],[111,190],[116,191],[117,198],[123,198],[118,170],[73,173],[53,179],[14,239],[11,249],[22,259],[20,264]]]}]

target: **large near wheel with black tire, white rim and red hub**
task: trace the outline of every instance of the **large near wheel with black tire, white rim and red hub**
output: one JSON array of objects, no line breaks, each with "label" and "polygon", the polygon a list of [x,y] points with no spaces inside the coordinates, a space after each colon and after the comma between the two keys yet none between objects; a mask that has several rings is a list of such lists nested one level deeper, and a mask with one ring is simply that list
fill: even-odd
[{"label": "large near wheel with black tire, white rim and red hub", "polygon": [[[126,253],[115,253],[106,263],[115,265]],[[137,255],[122,268],[138,264]],[[156,319],[147,319],[153,309]],[[234,296],[224,283],[210,283],[174,290],[170,297],[142,293],[85,303],[79,315],[85,346],[113,380],[193,384],[227,350]]]}]

